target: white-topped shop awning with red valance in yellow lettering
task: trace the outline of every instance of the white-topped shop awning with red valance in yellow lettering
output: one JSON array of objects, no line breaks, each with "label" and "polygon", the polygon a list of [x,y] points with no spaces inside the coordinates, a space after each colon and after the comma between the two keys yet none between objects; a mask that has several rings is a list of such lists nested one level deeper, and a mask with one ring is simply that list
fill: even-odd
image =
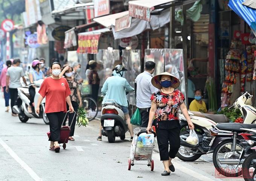
[{"label": "white-topped shop awning with red valance in yellow lettering", "polygon": [[103,28],[90,32],[78,33],[78,53],[98,53],[99,38],[101,33],[109,32],[110,29]]}]

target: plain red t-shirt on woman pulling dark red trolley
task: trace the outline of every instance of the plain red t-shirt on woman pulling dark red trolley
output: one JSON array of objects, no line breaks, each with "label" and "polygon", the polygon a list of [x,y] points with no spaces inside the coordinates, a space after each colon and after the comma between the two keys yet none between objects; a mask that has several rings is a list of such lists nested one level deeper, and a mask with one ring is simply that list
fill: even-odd
[{"label": "plain red t-shirt on woman pulling dark red trolley", "polygon": [[39,94],[46,97],[45,113],[67,112],[66,97],[70,95],[70,88],[65,78],[44,79]]}]

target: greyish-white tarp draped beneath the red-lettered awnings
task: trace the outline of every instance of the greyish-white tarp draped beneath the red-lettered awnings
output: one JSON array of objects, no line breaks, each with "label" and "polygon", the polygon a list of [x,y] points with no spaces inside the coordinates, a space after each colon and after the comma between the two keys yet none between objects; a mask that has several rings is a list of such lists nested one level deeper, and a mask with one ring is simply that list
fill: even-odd
[{"label": "greyish-white tarp draped beneath the red-lettered awnings", "polygon": [[160,27],[165,26],[165,24],[169,22],[170,11],[169,9],[166,9],[164,11],[161,11],[161,13],[158,15],[151,15],[150,22],[137,18],[132,18],[130,27],[117,32],[115,30],[115,26],[112,26],[112,31],[114,39],[116,40],[121,38],[133,37],[134,35],[138,35],[147,29],[156,30]]}]

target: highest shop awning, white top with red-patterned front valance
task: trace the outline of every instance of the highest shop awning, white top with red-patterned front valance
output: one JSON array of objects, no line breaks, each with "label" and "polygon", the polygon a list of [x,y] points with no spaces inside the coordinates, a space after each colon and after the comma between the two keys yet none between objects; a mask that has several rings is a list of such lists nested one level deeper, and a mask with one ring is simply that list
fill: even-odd
[{"label": "highest shop awning, white top with red-patterned front valance", "polygon": [[154,9],[168,8],[177,0],[137,0],[129,1],[129,15],[134,18],[151,21],[150,13]]}]

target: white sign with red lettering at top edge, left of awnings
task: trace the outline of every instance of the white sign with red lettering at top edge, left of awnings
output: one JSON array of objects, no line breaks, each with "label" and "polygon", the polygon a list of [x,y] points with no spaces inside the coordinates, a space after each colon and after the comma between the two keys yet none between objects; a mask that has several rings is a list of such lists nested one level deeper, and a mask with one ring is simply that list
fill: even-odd
[{"label": "white sign with red lettering at top edge, left of awnings", "polygon": [[94,17],[109,14],[110,0],[94,0]]}]

